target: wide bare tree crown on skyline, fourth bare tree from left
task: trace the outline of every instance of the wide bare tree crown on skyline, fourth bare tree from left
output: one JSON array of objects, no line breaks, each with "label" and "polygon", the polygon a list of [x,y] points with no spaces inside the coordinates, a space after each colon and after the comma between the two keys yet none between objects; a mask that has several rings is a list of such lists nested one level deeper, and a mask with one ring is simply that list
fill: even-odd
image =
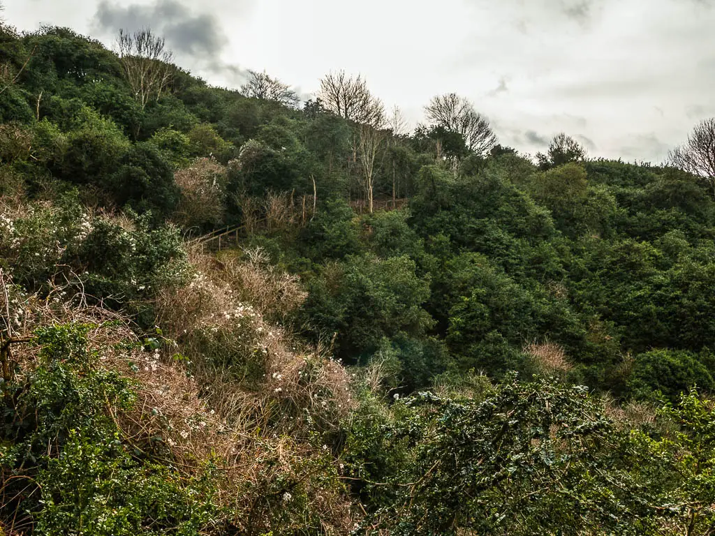
[{"label": "wide bare tree crown on skyline, fourth bare tree from left", "polygon": [[425,106],[425,112],[433,126],[460,134],[467,148],[476,154],[487,154],[497,142],[489,122],[475,111],[468,99],[458,94],[434,96]]}]

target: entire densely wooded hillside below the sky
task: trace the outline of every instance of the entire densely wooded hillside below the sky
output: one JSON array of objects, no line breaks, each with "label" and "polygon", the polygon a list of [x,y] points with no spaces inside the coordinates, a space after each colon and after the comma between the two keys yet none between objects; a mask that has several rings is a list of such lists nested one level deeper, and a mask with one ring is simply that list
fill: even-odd
[{"label": "entire densely wooded hillside below the sky", "polygon": [[0,534],[715,534],[707,121],[531,159],[171,59],[0,28]]}]

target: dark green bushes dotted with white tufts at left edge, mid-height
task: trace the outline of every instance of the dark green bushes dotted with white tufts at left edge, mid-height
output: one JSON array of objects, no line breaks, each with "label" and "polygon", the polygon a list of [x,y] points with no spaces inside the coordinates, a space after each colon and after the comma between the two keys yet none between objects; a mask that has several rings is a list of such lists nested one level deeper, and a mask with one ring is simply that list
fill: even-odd
[{"label": "dark green bushes dotted with white tufts at left edge, mid-height", "polygon": [[104,304],[129,306],[151,296],[160,284],[179,282],[185,253],[176,229],[152,227],[150,215],[120,222],[90,217],[76,194],[55,207],[33,207],[12,228],[0,227],[0,267],[30,291],[79,279]]}]

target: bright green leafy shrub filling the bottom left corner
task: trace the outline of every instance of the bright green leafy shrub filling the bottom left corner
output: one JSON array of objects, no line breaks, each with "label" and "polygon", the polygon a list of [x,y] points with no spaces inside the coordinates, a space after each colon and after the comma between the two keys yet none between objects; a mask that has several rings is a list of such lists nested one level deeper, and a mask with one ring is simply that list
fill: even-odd
[{"label": "bright green leafy shrub filling the bottom left corner", "polygon": [[[132,382],[100,365],[87,335],[98,327],[38,329],[36,367],[4,387],[0,465],[5,526],[34,535],[198,535],[210,519],[211,490],[139,453],[120,433]],[[9,478],[9,475],[13,475]]]}]

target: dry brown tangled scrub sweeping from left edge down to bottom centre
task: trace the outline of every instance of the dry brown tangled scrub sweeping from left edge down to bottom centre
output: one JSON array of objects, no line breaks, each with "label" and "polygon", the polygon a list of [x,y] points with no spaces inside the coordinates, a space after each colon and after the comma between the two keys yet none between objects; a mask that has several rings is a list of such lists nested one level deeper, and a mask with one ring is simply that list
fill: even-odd
[{"label": "dry brown tangled scrub sweeping from left edge down to bottom centre", "polygon": [[[40,299],[24,294],[3,274],[2,327],[21,337],[53,324],[97,326],[88,338],[102,356],[100,366],[137,384],[133,410],[108,409],[124,440],[187,476],[201,475],[207,462],[216,467],[214,502],[230,513],[225,527],[219,523],[207,534],[226,527],[245,534],[276,527],[305,532],[309,517],[314,524],[320,520],[315,532],[347,534],[355,512],[330,447],[318,439],[336,430],[352,407],[345,369],[265,319],[263,309],[296,307],[302,294],[295,281],[267,269],[260,255],[250,255],[244,267],[237,259],[228,264],[193,260],[206,272],[197,272],[183,289],[164,289],[159,298],[166,337],[157,350],[142,348],[137,330],[122,314],[89,306],[79,278],[69,277]],[[255,273],[260,270],[265,272]],[[263,284],[283,292],[270,301],[265,289],[252,287]],[[260,306],[240,301],[250,297]],[[236,333],[245,340],[237,341]],[[132,342],[134,349],[120,342]],[[265,376],[247,384],[227,373],[230,367],[210,362],[204,350],[224,342],[231,351],[258,354]],[[179,354],[192,363],[176,359]],[[36,356],[32,344],[14,348],[20,374],[36,367]]]}]

